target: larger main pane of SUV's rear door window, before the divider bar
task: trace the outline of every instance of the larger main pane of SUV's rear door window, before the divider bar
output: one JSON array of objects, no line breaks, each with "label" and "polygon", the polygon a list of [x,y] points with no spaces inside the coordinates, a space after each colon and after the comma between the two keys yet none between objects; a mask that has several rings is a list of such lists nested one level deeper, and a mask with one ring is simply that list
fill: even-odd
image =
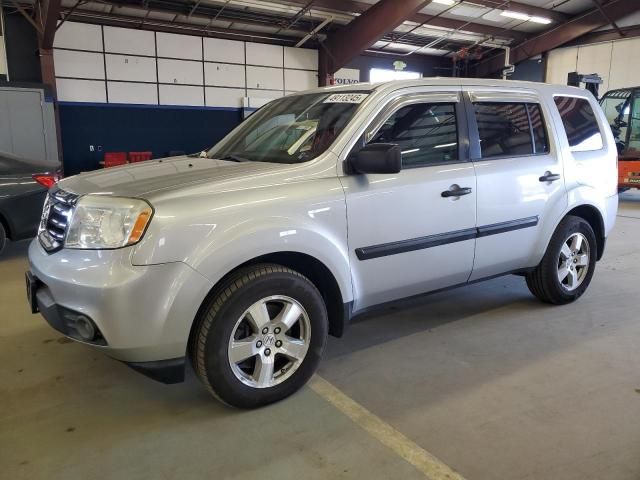
[{"label": "larger main pane of SUV's rear door window, before the divider bar", "polygon": [[524,103],[475,103],[482,158],[533,154]]}]

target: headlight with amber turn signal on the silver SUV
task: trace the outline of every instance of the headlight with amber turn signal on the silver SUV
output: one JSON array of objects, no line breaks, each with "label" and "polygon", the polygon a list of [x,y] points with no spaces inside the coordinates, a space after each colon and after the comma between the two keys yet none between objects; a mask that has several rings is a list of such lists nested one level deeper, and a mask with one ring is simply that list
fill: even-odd
[{"label": "headlight with amber turn signal on the silver SUV", "polygon": [[86,195],[76,204],[66,248],[120,248],[140,241],[153,210],[136,198]]}]

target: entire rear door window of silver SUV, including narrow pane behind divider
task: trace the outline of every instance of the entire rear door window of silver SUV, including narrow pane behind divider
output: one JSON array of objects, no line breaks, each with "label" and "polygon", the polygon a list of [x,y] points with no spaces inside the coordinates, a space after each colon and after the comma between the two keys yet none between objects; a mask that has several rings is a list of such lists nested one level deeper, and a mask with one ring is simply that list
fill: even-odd
[{"label": "entire rear door window of silver SUV, including narrow pane behind divider", "polygon": [[533,155],[549,151],[539,105],[474,103],[482,158]]}]

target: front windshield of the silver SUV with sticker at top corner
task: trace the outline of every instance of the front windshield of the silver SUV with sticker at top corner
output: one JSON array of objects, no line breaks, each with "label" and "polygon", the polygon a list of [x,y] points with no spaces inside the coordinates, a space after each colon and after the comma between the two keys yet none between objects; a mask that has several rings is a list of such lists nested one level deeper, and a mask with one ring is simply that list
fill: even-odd
[{"label": "front windshield of the silver SUV with sticker at top corner", "polygon": [[368,92],[311,93],[265,105],[207,156],[238,162],[301,163],[325,152]]}]

